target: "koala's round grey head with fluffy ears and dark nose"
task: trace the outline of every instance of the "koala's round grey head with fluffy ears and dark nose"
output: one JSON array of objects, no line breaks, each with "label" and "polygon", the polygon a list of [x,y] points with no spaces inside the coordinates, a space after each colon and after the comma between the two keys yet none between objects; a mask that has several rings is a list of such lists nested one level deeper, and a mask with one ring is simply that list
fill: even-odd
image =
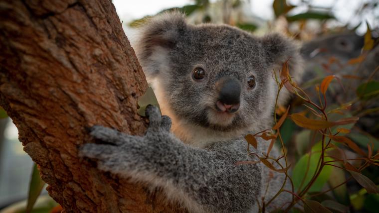
[{"label": "koala's round grey head with fluffy ears and dark nose", "polygon": [[150,20],[136,52],[170,116],[222,132],[269,123],[277,92],[272,71],[300,60],[297,46],[280,35],[191,25],[180,13]]}]

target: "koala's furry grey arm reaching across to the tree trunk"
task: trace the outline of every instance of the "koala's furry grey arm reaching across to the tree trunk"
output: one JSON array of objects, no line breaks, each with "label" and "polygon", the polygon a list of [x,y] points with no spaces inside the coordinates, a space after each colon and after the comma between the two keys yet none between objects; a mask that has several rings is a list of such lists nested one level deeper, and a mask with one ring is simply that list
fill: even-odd
[{"label": "koala's furry grey arm reaching across to the tree trunk", "polygon": [[95,126],[91,135],[102,144],[85,144],[81,155],[98,168],[162,187],[190,212],[248,212],[260,195],[260,167],[235,165],[251,160],[246,143],[190,147],[170,133],[171,120],[148,107],[150,126],[143,137]]}]

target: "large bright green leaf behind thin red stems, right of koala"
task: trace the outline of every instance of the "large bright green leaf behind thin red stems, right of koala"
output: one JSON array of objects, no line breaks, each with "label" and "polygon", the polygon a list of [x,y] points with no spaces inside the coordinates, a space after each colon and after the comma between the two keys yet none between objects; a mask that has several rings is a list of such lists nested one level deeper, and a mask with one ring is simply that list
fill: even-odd
[{"label": "large bright green leaf behind thin red stems, right of koala", "polygon": [[[296,190],[300,188],[300,185],[305,178],[304,184],[302,185],[302,189],[311,181],[315,172],[319,169],[317,164],[321,157],[321,143],[317,143],[312,148],[312,155],[309,153],[303,155],[300,160],[296,163],[293,171],[292,171],[292,181]],[[325,157],[325,161],[332,160],[330,157]],[[308,165],[309,161],[309,165]],[[307,172],[308,168],[308,172]],[[321,171],[319,177],[317,177],[316,181],[313,183],[309,192],[319,192],[324,187],[325,183],[328,181],[329,176],[332,172],[332,166],[324,166]],[[307,175],[305,176],[305,174]]]}]

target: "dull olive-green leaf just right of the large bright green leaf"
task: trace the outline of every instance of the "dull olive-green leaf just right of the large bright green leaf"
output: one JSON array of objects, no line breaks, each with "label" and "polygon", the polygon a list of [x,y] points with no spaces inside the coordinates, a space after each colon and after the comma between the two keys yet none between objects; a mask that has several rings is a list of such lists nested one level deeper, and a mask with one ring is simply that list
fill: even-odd
[{"label": "dull olive-green leaf just right of the large bright green leaf", "polygon": [[[330,174],[328,184],[330,188],[335,188],[341,183],[344,183],[346,181],[345,172],[339,168],[332,168],[332,173]],[[344,205],[349,206],[350,205],[350,198],[348,189],[346,187],[346,183],[335,188],[333,191],[334,197],[336,197],[336,200]],[[325,205],[324,205],[325,206]]]}]

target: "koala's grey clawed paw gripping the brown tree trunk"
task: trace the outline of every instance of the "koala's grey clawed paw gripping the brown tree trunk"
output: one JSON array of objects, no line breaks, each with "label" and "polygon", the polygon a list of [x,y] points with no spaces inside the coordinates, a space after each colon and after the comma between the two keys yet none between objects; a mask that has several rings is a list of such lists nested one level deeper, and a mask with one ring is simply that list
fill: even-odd
[{"label": "koala's grey clawed paw gripping the brown tree trunk", "polygon": [[80,147],[79,156],[97,161],[98,168],[115,174],[127,174],[150,167],[151,157],[160,143],[170,140],[171,119],[155,106],[148,106],[149,128],[145,136],[133,136],[104,126],[93,126],[90,135],[96,143]]}]

